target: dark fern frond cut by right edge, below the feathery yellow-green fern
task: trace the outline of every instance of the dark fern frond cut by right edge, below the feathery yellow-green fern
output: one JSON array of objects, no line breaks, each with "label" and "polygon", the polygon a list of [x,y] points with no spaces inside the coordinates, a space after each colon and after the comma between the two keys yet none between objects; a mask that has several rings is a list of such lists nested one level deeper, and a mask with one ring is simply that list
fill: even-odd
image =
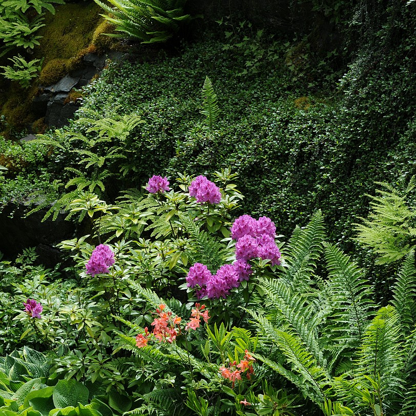
[{"label": "dark fern frond cut by right edge, below the feathery yellow-green fern", "polygon": [[403,335],[409,334],[416,323],[416,269],[414,267],[414,249],[406,256],[392,288],[391,304],[400,315]]}]

